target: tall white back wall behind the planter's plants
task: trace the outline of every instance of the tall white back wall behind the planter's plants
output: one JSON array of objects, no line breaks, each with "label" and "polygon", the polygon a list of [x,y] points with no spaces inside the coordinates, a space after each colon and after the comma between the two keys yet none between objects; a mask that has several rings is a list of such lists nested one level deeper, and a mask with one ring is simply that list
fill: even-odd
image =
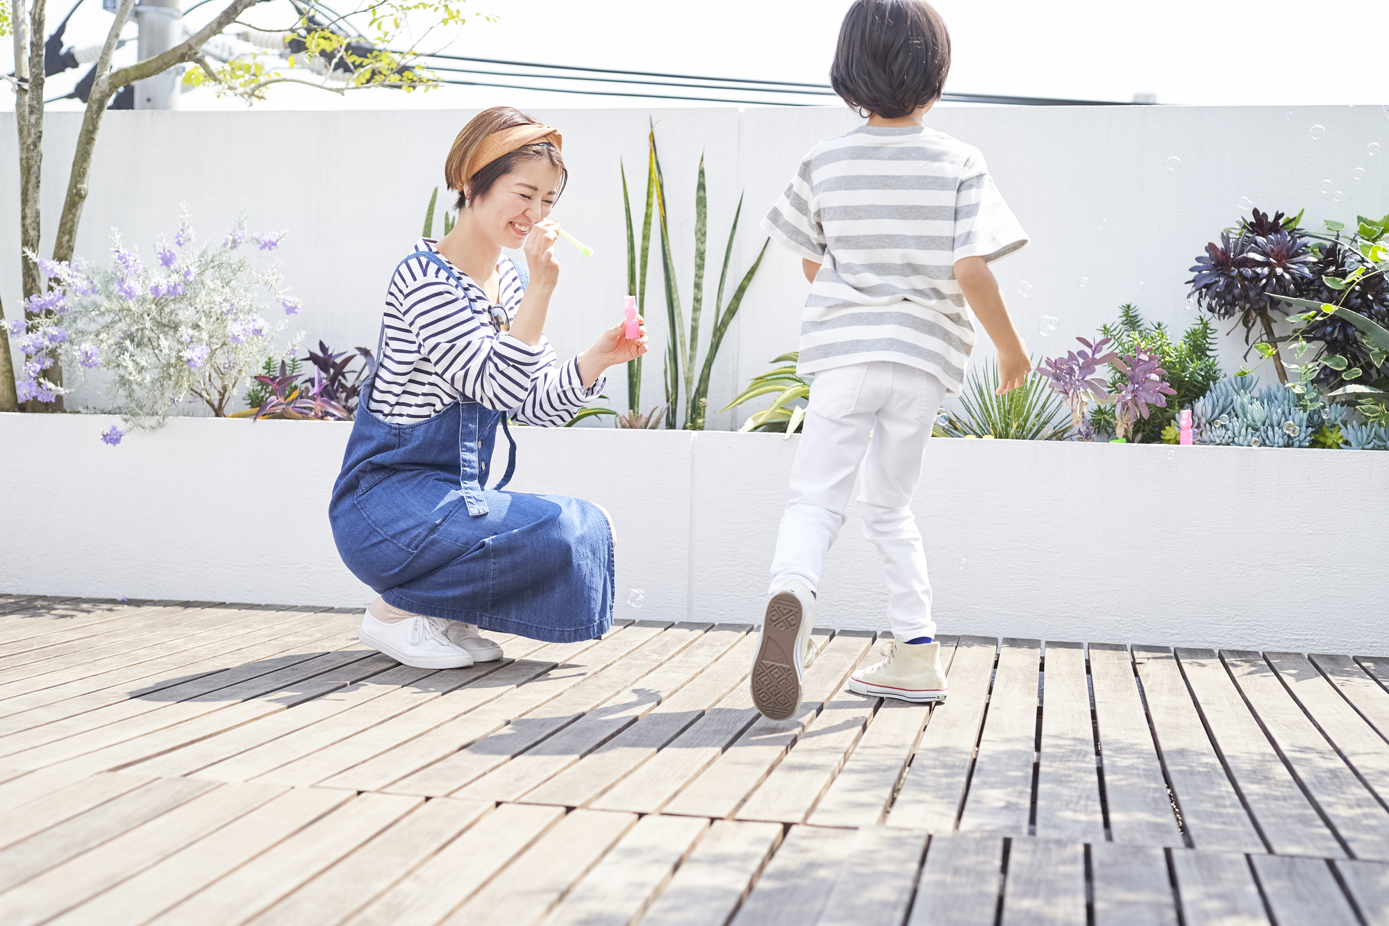
[{"label": "tall white back wall behind the planter's plants", "polygon": [[[504,99],[499,97],[499,101]],[[1290,115],[1289,115],[1290,114]],[[82,218],[78,253],[104,260],[111,227],[150,253],[176,228],[179,202],[201,241],[221,239],[239,210],[257,229],[289,228],[285,275],[306,310],[294,328],[343,349],[374,345],[381,293],[394,263],[419,234],[429,192],[442,184],[444,153],[471,111],[108,113]],[[635,186],[640,222],[647,118],[656,118],[672,210],[681,293],[690,298],[693,190],[700,154],[710,197],[710,299],[739,192],[743,227],[732,274],[750,266],[763,235],[757,220],[818,139],[857,124],[847,110],[672,108],[540,110],[565,136],[569,189],[556,217],[596,254],[563,253],[560,298],[549,327],[561,356],[590,342],[619,316],[626,286],[619,159]],[[81,115],[50,114],[44,136],[44,231],[51,242]],[[950,107],[929,124],[976,145],[1032,245],[996,266],[1029,348],[1054,355],[1092,335],[1124,302],[1174,327],[1190,323],[1188,268],[1207,241],[1239,217],[1246,196],[1261,209],[1306,207],[1308,227],[1357,211],[1389,211],[1389,121],[1381,107]],[[1310,128],[1325,136],[1313,140]],[[1367,146],[1383,150],[1370,156]],[[1181,165],[1168,170],[1167,160]],[[1367,171],[1353,179],[1356,168]],[[1321,193],[1322,179],[1343,193]],[[15,311],[18,181],[13,121],[0,122],[0,296]],[[442,225],[442,221],[440,221]],[[565,246],[567,247],[567,246]],[[653,249],[653,263],[658,250]],[[806,282],[799,260],[776,249],[749,291],[725,341],[711,389],[722,406],[767,360],[796,345]],[[1081,278],[1089,284],[1081,286]],[[660,270],[647,285],[654,342],[664,339]],[[1031,296],[1018,295],[1018,284]],[[711,310],[710,310],[711,314]],[[706,318],[710,318],[706,314]],[[1060,328],[1042,336],[1042,316]],[[708,324],[706,323],[706,332]],[[1240,363],[1242,332],[1222,338],[1225,367]],[[983,353],[992,349],[982,342]],[[625,374],[607,395],[625,403]],[[646,366],[644,405],[660,398],[660,359]],[[90,393],[78,403],[94,402]],[[745,414],[711,416],[731,427]]]}]

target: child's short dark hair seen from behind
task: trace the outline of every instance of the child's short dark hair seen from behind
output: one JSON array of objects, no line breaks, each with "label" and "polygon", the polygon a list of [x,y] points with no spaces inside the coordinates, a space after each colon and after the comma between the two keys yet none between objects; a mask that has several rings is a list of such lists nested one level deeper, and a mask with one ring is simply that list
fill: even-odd
[{"label": "child's short dark hair seen from behind", "polygon": [[829,83],[860,115],[895,120],[940,99],[950,33],[925,0],[856,0],[839,26]]}]

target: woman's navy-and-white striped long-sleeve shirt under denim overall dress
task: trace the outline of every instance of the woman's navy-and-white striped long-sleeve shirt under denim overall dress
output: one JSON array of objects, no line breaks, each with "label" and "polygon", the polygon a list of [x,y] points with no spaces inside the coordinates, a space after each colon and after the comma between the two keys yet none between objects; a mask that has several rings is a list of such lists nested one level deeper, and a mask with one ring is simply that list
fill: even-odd
[{"label": "woman's navy-and-white striped long-sleeve shirt under denim overall dress", "polygon": [[[421,238],[415,250],[439,253],[428,238]],[[510,324],[521,304],[521,278],[510,257],[497,268],[499,303]],[[464,396],[525,424],[557,425],[603,391],[604,377],[583,388],[576,359],[558,364],[549,339],[542,336],[532,348],[494,331],[488,316],[492,303],[482,288],[453,270],[464,289],[424,257],[396,268],[386,289],[386,336],[371,391],[375,414],[408,424],[431,419]]]}]

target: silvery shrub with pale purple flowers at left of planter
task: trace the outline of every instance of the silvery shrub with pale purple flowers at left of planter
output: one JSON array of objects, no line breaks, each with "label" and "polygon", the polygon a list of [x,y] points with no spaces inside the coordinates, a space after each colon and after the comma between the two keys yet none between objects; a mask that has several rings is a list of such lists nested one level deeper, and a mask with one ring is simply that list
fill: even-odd
[{"label": "silvery shrub with pale purple flowers at left of planter", "polygon": [[[238,385],[283,356],[275,339],[285,323],[267,317],[300,310],[274,266],[253,266],[282,238],[247,232],[240,217],[221,243],[197,247],[185,213],[172,242],[156,242],[149,263],[118,234],[107,267],[26,253],[49,289],[25,304],[28,321],[10,323],[25,355],[19,399],[51,402],[68,392],[44,377],[60,356],[79,375],[104,373],[108,407],[129,427],[158,427],[190,396],[226,416]],[[257,247],[242,247],[247,242]]]}]

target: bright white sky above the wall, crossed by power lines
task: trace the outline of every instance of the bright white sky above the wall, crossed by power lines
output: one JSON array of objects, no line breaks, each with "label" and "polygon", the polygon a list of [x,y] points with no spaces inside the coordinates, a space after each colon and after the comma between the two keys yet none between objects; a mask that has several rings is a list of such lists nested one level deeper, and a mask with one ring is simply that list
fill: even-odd
[{"label": "bright white sky above the wall, crossed by power lines", "polygon": [[[50,22],[65,15],[71,3],[53,0]],[[451,42],[435,43],[431,50],[578,67],[824,83],[839,19],[847,6],[849,0],[701,0],[697,4],[468,0],[468,13],[494,21],[472,18],[456,29]],[[213,0],[190,13],[189,25],[200,25],[217,8]],[[1151,4],[939,0],[936,8],[950,28],[953,43],[947,92],[1115,101],[1151,93],[1158,103],[1203,106],[1389,103],[1389,79],[1383,72],[1389,3],[1338,4],[1336,8],[1345,10],[1342,15],[1331,15],[1332,7],[1308,7],[1306,0],[1254,4],[1232,0]],[[244,19],[275,28],[288,25],[290,17],[288,4],[274,0],[253,8]],[[110,19],[100,0],[83,0],[68,26],[67,43],[100,43]],[[135,26],[128,29],[133,36]],[[10,40],[0,44],[4,46],[0,71],[10,72]],[[133,53],[135,43],[131,43],[119,56],[133,60]],[[125,61],[118,58],[118,63]],[[71,89],[83,71],[50,78],[47,96]],[[271,99],[257,106],[288,110],[476,108],[501,101],[522,108],[653,104],[651,100],[615,96],[492,88],[450,86],[408,96],[394,90],[365,90],[338,96],[313,88],[279,86],[271,90]],[[833,97],[824,101],[836,103]],[[239,100],[219,100],[207,89],[185,93],[181,99],[181,108],[189,110],[244,106]],[[14,107],[11,93],[0,90],[0,107]],[[64,100],[51,107],[79,108],[81,104]]]}]

